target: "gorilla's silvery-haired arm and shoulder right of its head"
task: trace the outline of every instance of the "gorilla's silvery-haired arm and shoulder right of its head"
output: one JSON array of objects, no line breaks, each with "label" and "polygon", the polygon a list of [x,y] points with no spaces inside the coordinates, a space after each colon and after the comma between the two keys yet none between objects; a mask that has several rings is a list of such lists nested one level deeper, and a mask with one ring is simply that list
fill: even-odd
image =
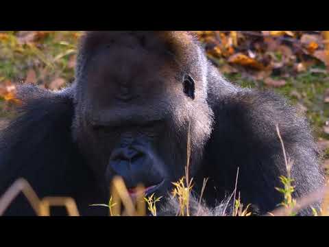
[{"label": "gorilla's silvery-haired arm and shoulder right of its head", "polygon": [[324,176],[306,119],[275,93],[236,88],[218,97],[214,93],[222,83],[210,82],[215,128],[205,157],[209,176],[216,174],[214,187],[232,192],[239,167],[237,189],[244,202],[255,204],[260,213],[282,202],[275,187],[283,186],[279,176],[287,176],[287,169],[276,132],[278,124],[287,155],[293,161],[295,198],[319,189]]}]

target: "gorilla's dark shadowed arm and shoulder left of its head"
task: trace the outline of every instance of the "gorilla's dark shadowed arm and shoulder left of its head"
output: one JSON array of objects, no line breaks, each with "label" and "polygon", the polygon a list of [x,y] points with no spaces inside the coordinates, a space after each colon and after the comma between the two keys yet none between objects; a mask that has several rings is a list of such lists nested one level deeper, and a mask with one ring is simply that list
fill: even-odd
[{"label": "gorilla's dark shadowed arm and shoulder left of its head", "polygon": [[[92,184],[72,142],[70,90],[51,93],[34,86],[19,89],[23,101],[19,117],[0,136],[0,196],[17,178],[25,178],[40,198],[75,196],[75,190],[83,191],[81,187]],[[21,198],[10,206],[9,215],[32,213]]]}]

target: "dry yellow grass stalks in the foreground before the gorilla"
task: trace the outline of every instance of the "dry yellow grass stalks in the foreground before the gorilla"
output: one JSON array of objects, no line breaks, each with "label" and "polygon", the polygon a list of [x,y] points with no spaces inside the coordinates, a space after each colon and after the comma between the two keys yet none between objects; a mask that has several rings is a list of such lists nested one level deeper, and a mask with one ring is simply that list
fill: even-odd
[{"label": "dry yellow grass stalks in the foreground before the gorilla", "polygon": [[[188,126],[188,140],[187,140],[187,161],[185,167],[185,176],[178,180],[178,182],[173,183],[174,188],[172,191],[173,198],[177,198],[180,204],[180,209],[178,210],[176,215],[180,216],[189,216],[189,202],[191,198],[191,191],[193,189],[193,178],[189,178],[189,161],[191,157],[191,139],[189,134],[190,126]],[[311,193],[310,195],[300,198],[293,198],[293,179],[291,178],[291,167],[293,166],[293,161],[287,155],[287,152],[284,148],[284,142],[282,140],[279,127],[276,126],[276,132],[278,134],[278,138],[280,139],[280,143],[282,145],[282,152],[284,156],[284,162],[287,167],[287,177],[280,176],[280,180],[282,182],[282,188],[276,188],[280,193],[284,196],[284,201],[280,204],[281,207],[275,209],[272,212],[267,213],[267,215],[272,216],[293,216],[296,215],[298,211],[308,207],[310,204],[317,202],[318,200],[323,199],[321,211],[314,211],[314,215],[328,216],[328,207],[329,207],[329,188],[328,186],[316,191],[315,193]],[[249,212],[250,205],[244,207],[241,203],[241,195],[240,192],[236,190],[239,178],[239,168],[236,172],[236,181],[235,188],[233,193],[231,194],[226,208],[223,212],[226,211],[228,207],[228,203],[234,198],[234,205],[232,210],[232,216],[249,216],[251,213]],[[199,198],[199,209],[197,210],[197,215],[199,215],[201,211],[202,205],[202,196],[204,193],[204,189],[206,188],[206,183],[208,178],[204,179],[204,183],[202,186],[201,196]],[[92,204],[90,207],[108,207],[110,216],[144,216],[147,215],[146,207],[151,213],[151,215],[157,216],[157,208],[156,203],[160,202],[162,199],[156,198],[156,196],[151,195],[149,198],[145,198],[144,195],[144,187],[139,185],[136,189],[136,198],[133,200],[128,191],[127,187],[125,187],[125,183],[122,178],[116,177],[112,181],[111,187],[111,198],[108,204]],[[47,197],[42,198],[41,200],[38,198],[36,192],[29,183],[20,178],[16,180],[16,182],[5,192],[5,194],[0,198],[0,216],[5,213],[5,210],[8,209],[10,203],[14,201],[14,199],[19,196],[19,193],[23,193],[23,195],[27,198],[29,204],[31,204],[32,209],[36,212],[38,216],[50,216],[51,207],[65,207],[69,216],[79,216],[80,213],[77,210],[77,205],[73,198],[63,198],[63,197]],[[239,194],[239,197],[236,198],[236,194]],[[121,206],[123,205],[123,212],[121,212]]]}]

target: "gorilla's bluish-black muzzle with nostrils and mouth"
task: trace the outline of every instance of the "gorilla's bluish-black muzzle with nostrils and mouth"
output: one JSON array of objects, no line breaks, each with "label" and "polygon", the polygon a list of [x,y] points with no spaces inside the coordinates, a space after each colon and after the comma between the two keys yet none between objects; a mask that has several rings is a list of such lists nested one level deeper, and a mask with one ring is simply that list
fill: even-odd
[{"label": "gorilla's bluish-black muzzle with nostrils and mouth", "polygon": [[121,176],[128,189],[142,184],[155,192],[167,185],[168,172],[158,158],[151,142],[146,138],[123,138],[112,150],[106,168],[106,180],[110,184],[114,176]]}]

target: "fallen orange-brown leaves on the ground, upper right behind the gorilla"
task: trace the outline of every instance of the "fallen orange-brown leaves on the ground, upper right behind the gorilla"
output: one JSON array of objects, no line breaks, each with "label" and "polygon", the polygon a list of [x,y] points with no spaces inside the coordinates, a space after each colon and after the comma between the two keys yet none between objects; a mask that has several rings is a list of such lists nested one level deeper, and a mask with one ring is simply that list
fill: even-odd
[{"label": "fallen orange-brown leaves on the ground, upper right behind the gorilla", "polygon": [[242,71],[267,86],[284,86],[284,80],[314,65],[329,67],[327,31],[195,31],[208,56],[223,73]]}]

